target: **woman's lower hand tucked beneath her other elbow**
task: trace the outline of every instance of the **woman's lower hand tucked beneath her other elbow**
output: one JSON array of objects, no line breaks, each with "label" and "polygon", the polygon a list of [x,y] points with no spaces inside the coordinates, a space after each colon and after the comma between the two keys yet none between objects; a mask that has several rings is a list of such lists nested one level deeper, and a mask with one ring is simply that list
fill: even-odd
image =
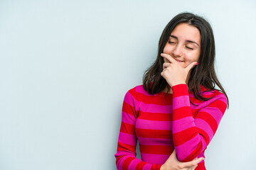
[{"label": "woman's lower hand tucked beneath her other elbow", "polygon": [[203,161],[203,157],[199,159],[193,159],[191,162],[179,162],[176,156],[176,151],[174,149],[174,152],[172,152],[171,156],[167,161],[161,166],[160,170],[194,170],[196,169],[196,166],[198,166],[198,163]]}]

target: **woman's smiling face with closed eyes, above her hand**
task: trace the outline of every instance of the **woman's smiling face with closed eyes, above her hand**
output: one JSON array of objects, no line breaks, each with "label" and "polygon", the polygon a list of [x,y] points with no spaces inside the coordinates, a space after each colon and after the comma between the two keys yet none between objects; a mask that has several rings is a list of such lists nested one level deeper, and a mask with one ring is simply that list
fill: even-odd
[{"label": "woman's smiling face with closed eyes, above her hand", "polygon": [[[180,23],[171,32],[164,53],[171,55],[183,68],[191,62],[198,62],[201,49],[201,35],[198,28]],[[164,58],[164,62],[169,62]],[[200,64],[200,63],[199,63]]]}]

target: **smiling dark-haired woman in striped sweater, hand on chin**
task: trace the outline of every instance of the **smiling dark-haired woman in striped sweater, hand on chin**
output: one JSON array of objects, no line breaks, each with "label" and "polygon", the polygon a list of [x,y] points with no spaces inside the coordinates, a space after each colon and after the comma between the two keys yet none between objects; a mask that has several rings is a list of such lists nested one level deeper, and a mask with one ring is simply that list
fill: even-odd
[{"label": "smiling dark-haired woman in striped sweater, hand on chin", "polygon": [[117,169],[206,169],[205,149],[228,106],[214,59],[213,30],[205,19],[180,13],[167,24],[143,85],[124,97]]}]

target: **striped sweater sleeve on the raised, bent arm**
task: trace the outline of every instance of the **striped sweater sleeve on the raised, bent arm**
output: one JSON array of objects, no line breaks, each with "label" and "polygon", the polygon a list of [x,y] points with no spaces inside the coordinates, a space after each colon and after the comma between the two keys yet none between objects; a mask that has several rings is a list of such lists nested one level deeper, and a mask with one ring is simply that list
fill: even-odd
[{"label": "striped sweater sleeve on the raised, bent arm", "polygon": [[[219,91],[207,92],[208,101],[201,101],[191,110],[186,84],[178,84],[173,90],[172,133],[178,160],[188,162],[206,149],[218,128],[227,108],[227,98]],[[195,115],[195,116],[193,116]]]}]

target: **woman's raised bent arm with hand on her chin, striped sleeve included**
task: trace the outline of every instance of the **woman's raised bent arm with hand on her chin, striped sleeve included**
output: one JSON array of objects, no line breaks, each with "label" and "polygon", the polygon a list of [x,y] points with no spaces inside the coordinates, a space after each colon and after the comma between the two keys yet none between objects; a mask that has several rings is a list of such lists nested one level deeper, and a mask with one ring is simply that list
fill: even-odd
[{"label": "woman's raised bent arm with hand on her chin, striped sleeve included", "polygon": [[213,98],[201,103],[196,117],[193,118],[191,103],[188,96],[188,75],[196,62],[187,67],[181,65],[171,55],[161,53],[169,60],[164,62],[161,76],[166,79],[173,91],[173,124],[172,133],[178,160],[189,162],[201,154],[213,139],[218,124],[227,108],[227,98],[216,91]]}]

